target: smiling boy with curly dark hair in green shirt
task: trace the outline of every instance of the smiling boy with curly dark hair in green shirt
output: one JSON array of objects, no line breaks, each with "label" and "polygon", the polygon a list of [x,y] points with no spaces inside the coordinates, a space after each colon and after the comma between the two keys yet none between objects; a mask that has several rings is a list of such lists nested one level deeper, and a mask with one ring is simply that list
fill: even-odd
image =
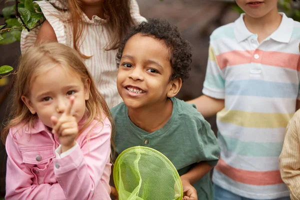
[{"label": "smiling boy with curly dark hair in green shirt", "polygon": [[124,101],[111,108],[116,153],[138,145],[154,148],[177,169],[184,199],[212,199],[208,172],[218,161],[219,145],[195,107],[174,97],[189,74],[190,44],[175,26],[149,19],[131,28],[116,60]]}]

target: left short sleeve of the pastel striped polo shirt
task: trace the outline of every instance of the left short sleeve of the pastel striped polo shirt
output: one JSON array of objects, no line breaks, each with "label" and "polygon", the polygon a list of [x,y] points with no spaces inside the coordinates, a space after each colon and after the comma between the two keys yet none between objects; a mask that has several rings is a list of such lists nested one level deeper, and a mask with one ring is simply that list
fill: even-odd
[{"label": "left short sleeve of the pastel striped polo shirt", "polygon": [[203,83],[203,94],[223,99],[225,97],[225,79],[224,75],[217,63],[215,50],[212,45],[209,46],[208,61]]}]

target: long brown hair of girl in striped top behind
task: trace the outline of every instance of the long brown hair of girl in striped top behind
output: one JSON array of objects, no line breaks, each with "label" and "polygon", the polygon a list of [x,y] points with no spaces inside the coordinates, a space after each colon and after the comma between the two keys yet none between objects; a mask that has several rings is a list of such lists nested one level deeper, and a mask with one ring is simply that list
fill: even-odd
[{"label": "long brown hair of girl in striped top behind", "polygon": [[[70,13],[72,31],[73,31],[73,47],[79,52],[79,39],[82,37],[85,27],[82,21],[82,10],[78,0],[67,0],[67,8]],[[110,42],[106,45],[106,50],[116,49],[120,41],[125,37],[133,24],[130,15],[130,0],[103,0],[104,15],[107,16],[109,32],[111,36]],[[79,52],[80,53],[80,52]],[[80,53],[81,57],[88,56]]]}]

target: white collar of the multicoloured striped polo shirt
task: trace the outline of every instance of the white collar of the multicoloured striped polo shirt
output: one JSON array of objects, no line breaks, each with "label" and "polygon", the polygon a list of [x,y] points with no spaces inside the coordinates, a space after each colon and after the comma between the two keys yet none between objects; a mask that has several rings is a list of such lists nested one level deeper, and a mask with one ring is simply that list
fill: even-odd
[{"label": "white collar of the multicoloured striped polo shirt", "polygon": [[[288,43],[293,30],[293,19],[288,18],[283,12],[279,12],[282,15],[282,19],[279,27],[269,37],[278,42]],[[234,34],[237,42],[241,42],[253,35],[243,20],[244,13],[240,14],[238,19],[234,21]]]}]

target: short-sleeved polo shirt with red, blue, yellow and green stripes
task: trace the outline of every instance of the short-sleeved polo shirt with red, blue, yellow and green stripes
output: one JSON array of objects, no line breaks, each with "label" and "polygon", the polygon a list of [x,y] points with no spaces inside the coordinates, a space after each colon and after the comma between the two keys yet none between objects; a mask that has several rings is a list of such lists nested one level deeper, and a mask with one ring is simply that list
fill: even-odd
[{"label": "short-sleeved polo shirt with red, blue, yellow and green stripes", "polygon": [[288,196],[278,156],[299,94],[300,23],[286,17],[258,43],[243,14],[210,36],[203,93],[225,99],[217,113],[220,159],[213,182],[238,195]]}]

